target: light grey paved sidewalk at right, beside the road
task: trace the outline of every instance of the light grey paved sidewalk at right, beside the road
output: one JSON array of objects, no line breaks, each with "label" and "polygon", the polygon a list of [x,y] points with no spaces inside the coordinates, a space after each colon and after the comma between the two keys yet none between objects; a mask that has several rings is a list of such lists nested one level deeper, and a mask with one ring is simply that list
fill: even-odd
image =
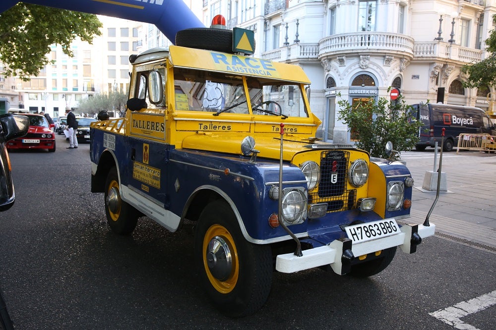
[{"label": "light grey paved sidewalk at right, beside the road", "polygon": [[[434,170],[434,149],[406,152],[402,159],[415,179],[412,218],[421,222],[435,198],[435,192],[423,189],[426,172]],[[438,236],[496,253],[496,154],[443,153],[442,171],[447,192],[439,194],[431,215]]]}]

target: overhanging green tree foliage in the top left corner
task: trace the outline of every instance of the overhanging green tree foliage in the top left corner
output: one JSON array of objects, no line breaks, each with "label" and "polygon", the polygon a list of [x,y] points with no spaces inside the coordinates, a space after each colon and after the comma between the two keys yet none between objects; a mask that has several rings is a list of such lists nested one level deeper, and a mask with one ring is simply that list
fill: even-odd
[{"label": "overhanging green tree foliage in the top left corner", "polygon": [[102,23],[94,14],[19,2],[0,14],[0,60],[5,76],[23,80],[38,76],[51,60],[50,46],[59,44],[72,56],[71,42],[79,37],[91,43],[101,35]]}]

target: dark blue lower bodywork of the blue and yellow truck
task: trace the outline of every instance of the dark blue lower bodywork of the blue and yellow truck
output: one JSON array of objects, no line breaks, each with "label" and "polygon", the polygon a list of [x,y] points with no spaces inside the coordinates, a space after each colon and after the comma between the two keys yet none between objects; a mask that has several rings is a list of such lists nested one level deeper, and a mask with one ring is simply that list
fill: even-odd
[{"label": "dark blue lower bodywork of the blue and yellow truck", "polygon": [[[100,129],[92,129],[91,134],[93,163],[99,164],[101,154],[105,151],[104,134],[115,135],[113,154],[119,164],[121,184],[134,187],[152,197],[165,210],[178,217],[183,216],[187,201],[198,189],[207,189],[216,191],[231,202],[241,218],[240,225],[244,226],[250,238],[263,241],[288,235],[281,226],[272,228],[268,224],[269,217],[278,213],[278,201],[269,198],[272,184],[267,184],[277,184],[279,181],[278,161],[258,159],[257,164],[252,164],[249,163],[248,157],[175,149],[164,143],[129,138]],[[133,164],[145,163],[144,146],[148,148],[150,155],[147,165],[160,171],[160,187],[133,178]],[[386,183],[404,180],[405,176],[410,176],[407,167],[399,162],[374,163],[383,171]],[[283,167],[283,182],[289,182],[284,184],[284,188],[306,187],[305,176],[299,167],[289,163],[284,163]],[[411,196],[412,188],[406,188],[405,197],[411,199]],[[386,211],[386,218],[407,216],[409,213],[409,210],[403,209]],[[374,212],[349,210],[329,212],[322,218],[308,219],[301,224],[290,225],[289,228],[295,234],[308,234],[308,242],[313,246],[320,246],[346,237],[340,225],[355,220],[370,222],[380,219],[381,217]]]}]

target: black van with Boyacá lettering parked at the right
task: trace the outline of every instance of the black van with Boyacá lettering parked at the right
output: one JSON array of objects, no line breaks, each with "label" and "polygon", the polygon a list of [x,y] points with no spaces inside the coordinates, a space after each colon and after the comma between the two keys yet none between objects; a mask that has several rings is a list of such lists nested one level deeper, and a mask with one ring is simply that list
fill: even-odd
[{"label": "black van with Boyac\u00e1 lettering parked at the right", "polygon": [[453,150],[458,144],[458,136],[462,133],[488,133],[496,135],[495,124],[480,108],[454,106],[448,104],[415,104],[417,120],[424,124],[420,127],[420,141],[415,145],[417,150],[434,148],[434,142],[441,144],[441,129],[444,127],[443,151]]}]

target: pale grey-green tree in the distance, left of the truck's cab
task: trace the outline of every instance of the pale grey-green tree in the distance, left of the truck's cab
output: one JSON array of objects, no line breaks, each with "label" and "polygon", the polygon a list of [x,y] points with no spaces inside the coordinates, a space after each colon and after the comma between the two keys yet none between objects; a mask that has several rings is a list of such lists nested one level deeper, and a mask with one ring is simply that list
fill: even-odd
[{"label": "pale grey-green tree in the distance, left of the truck's cab", "polygon": [[95,94],[88,99],[79,102],[77,112],[94,115],[102,110],[115,111],[116,117],[124,116],[124,106],[127,101],[127,94],[123,92],[110,92],[109,94]]}]

